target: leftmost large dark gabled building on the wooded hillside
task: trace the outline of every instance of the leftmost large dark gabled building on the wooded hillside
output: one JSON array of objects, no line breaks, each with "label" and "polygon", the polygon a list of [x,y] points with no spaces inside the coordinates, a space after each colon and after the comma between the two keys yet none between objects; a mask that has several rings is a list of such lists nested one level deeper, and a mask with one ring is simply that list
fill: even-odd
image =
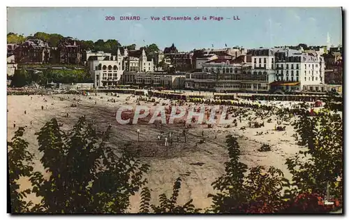
[{"label": "leftmost large dark gabled building on the wooded hillside", "polygon": [[15,47],[15,62],[22,64],[46,64],[50,61],[50,47],[45,41],[29,39]]}]

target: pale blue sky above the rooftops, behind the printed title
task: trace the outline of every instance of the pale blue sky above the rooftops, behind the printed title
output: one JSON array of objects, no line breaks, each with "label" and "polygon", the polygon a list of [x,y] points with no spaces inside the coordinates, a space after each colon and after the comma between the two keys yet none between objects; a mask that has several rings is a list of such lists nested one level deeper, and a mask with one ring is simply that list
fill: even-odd
[{"label": "pale blue sky above the rooftops, behind the printed title", "polygon": [[[106,20],[109,16],[115,20]],[[121,16],[140,20],[121,20]],[[164,16],[191,20],[163,21]],[[210,20],[211,16],[223,20]],[[40,31],[80,40],[116,39],[137,47],[156,43],[161,49],[174,43],[179,51],[225,44],[327,45],[327,33],[331,44],[338,45],[342,44],[341,16],[341,8],[8,8],[7,30],[24,36]]]}]

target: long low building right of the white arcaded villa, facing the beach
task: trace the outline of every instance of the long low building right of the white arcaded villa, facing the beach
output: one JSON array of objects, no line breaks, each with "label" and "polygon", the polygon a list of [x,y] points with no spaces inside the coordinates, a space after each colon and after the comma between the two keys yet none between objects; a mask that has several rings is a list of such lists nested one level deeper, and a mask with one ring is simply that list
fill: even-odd
[{"label": "long low building right of the white arcaded villa, facing the beach", "polygon": [[184,74],[125,72],[122,75],[122,84],[138,85],[139,87],[184,89],[185,77]]}]

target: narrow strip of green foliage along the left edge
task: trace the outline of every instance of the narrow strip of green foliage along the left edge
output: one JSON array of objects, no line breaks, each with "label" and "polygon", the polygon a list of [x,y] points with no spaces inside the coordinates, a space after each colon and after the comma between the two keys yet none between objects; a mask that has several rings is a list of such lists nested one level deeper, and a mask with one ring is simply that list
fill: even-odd
[{"label": "narrow strip of green foliage along the left edge", "polygon": [[30,193],[30,189],[20,190],[20,184],[17,183],[20,177],[29,177],[33,172],[33,155],[28,151],[29,143],[22,137],[24,128],[20,127],[15,131],[15,136],[8,145],[8,181],[10,184],[10,204],[12,213],[29,212],[32,203],[23,201],[24,197]]}]

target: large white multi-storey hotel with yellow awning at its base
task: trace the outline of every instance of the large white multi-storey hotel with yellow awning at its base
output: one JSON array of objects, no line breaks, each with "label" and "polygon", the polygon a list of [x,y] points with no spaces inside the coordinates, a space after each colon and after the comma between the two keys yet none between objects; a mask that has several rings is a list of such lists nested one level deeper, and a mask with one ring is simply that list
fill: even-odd
[{"label": "large white multi-storey hotel with yellow awning at its base", "polygon": [[304,85],[320,85],[325,82],[325,62],[316,53],[299,50],[275,52],[276,80],[272,89],[299,91]]}]

